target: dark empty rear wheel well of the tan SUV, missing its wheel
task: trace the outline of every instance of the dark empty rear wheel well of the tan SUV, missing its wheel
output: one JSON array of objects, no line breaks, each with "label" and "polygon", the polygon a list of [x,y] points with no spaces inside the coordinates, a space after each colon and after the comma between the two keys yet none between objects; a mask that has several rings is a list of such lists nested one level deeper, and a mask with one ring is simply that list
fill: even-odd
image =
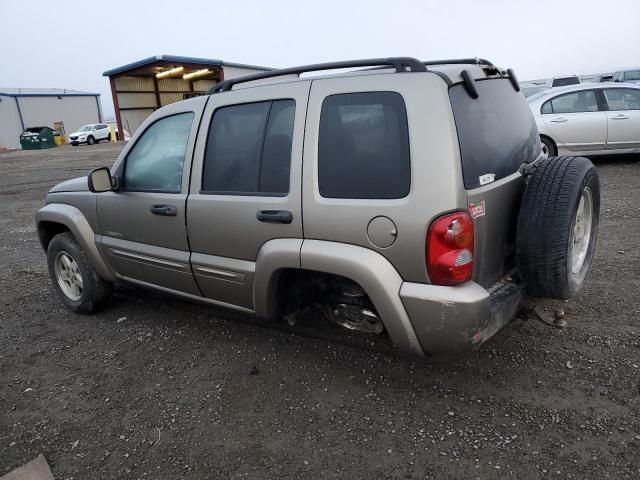
[{"label": "dark empty rear wheel well of the tan SUV, missing its wheel", "polygon": [[314,303],[322,303],[336,293],[358,292],[367,301],[369,296],[353,280],[331,273],[314,270],[284,269],[279,272],[277,295],[277,314],[284,316]]}]

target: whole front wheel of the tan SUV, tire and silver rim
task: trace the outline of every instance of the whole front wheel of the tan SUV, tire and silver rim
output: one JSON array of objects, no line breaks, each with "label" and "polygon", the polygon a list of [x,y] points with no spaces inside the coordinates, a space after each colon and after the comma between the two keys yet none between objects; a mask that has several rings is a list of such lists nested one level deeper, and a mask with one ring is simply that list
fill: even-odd
[{"label": "whole front wheel of the tan SUV, tire and silver rim", "polygon": [[71,232],[53,237],[47,266],[62,302],[74,312],[97,312],[111,297],[113,285],[98,276]]}]

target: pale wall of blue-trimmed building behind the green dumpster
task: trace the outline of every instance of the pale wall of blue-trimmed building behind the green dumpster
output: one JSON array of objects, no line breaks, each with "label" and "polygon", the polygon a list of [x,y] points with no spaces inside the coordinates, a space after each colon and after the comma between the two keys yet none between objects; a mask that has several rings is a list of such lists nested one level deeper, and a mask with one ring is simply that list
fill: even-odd
[{"label": "pale wall of blue-trimmed building behind the green dumpster", "polygon": [[64,122],[66,135],[88,123],[100,122],[96,97],[17,97],[25,128]]}]

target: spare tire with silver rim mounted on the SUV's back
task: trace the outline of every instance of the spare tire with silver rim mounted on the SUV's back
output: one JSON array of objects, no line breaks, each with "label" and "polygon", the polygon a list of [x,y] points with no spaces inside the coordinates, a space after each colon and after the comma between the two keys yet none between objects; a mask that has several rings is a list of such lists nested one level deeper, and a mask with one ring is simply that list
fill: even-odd
[{"label": "spare tire with silver rim mounted on the SUV's back", "polygon": [[518,216],[516,262],[526,291],[573,297],[591,267],[600,181],[584,157],[549,157],[528,179]]}]

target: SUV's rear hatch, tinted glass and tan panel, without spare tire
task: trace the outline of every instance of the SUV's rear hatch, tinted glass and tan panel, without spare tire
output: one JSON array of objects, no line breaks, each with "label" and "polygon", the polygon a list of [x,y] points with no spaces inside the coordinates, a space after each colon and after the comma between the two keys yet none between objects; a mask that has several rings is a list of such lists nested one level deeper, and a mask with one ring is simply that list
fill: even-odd
[{"label": "SUV's rear hatch, tinted glass and tan panel, without spare tire", "polygon": [[515,265],[515,234],[524,191],[523,163],[540,154],[540,140],[524,96],[508,78],[449,89],[469,211],[474,222],[473,280],[489,287]]}]

